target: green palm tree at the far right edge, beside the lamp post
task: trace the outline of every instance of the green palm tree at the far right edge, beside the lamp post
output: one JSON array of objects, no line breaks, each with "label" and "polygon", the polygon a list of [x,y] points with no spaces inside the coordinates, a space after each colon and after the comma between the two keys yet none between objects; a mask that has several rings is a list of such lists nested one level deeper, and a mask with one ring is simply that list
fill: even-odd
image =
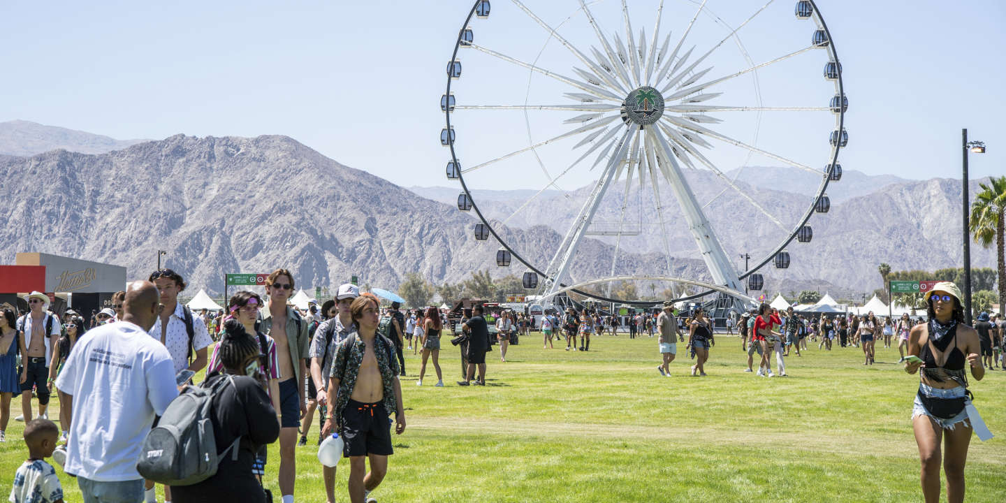
[{"label": "green palm tree at the far right edge, beside the lamp post", "polygon": [[1006,312],[1006,260],[1003,258],[1003,241],[1006,240],[1006,176],[990,178],[989,184],[981,184],[982,191],[975,194],[971,204],[971,233],[975,242],[982,247],[996,242],[996,264],[999,267],[999,312]]}]

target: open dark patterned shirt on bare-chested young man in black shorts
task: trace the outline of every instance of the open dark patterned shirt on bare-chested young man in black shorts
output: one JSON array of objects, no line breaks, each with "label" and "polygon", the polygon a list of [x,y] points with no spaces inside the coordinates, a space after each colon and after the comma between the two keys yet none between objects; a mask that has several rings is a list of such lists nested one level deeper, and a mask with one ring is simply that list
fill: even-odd
[{"label": "open dark patterned shirt on bare-chested young man in black shorts", "polygon": [[[349,342],[354,342],[349,344]],[[342,421],[342,411],[349,402],[349,396],[353,394],[356,387],[356,377],[360,371],[360,363],[363,362],[363,352],[366,351],[366,343],[360,340],[359,333],[353,332],[349,337],[336,348],[335,360],[332,362],[330,377],[339,377],[339,392],[335,399],[335,417]],[[384,409],[388,413],[394,413],[397,408],[397,401],[394,399],[394,381],[398,378],[398,360],[390,357],[394,351],[391,341],[380,334],[374,334],[374,357],[377,359],[377,367],[380,369],[381,381],[384,384]]]}]

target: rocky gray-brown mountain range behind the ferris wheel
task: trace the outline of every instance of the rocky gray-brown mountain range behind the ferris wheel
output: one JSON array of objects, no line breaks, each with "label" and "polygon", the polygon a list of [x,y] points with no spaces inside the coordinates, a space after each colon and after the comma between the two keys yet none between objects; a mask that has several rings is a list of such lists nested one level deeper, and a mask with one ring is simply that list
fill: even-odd
[{"label": "rocky gray-brown mountain range behind the ferris wheel", "polygon": [[[67,144],[69,137],[62,132],[68,130],[36,126],[0,124],[0,131],[8,132],[0,135],[7,153],[0,156],[0,190],[10,194],[4,212],[13,222],[0,230],[0,263],[12,263],[16,252],[53,253],[125,266],[130,278],[140,278],[154,269],[156,250],[166,249],[168,267],[211,294],[222,293],[224,273],[277,267],[291,269],[299,287],[332,288],[356,275],[363,283],[392,290],[410,272],[441,284],[487,268],[494,277],[524,271],[516,261],[511,268],[496,267],[497,245],[492,239],[475,239],[477,218],[457,210],[459,188],[406,190],[288,137],[176,135],[126,145],[80,133],[72,137],[80,142],[76,146]],[[10,139],[32,134],[36,136],[30,141],[11,144]],[[32,150],[60,141],[61,150]],[[87,149],[94,153],[79,152]],[[767,201],[769,212],[780,218],[805,210],[808,193],[791,190],[806,182],[795,173],[787,190],[764,186],[754,175],[770,169],[787,168],[748,167],[735,183]],[[700,198],[718,191],[707,172],[687,176]],[[546,192],[541,204],[495,227],[508,244],[535,264],[545,264],[562,239],[563,224],[579,208],[576,201],[589,190]],[[854,299],[880,286],[880,262],[895,271],[960,265],[959,181],[871,177],[846,170],[828,193],[831,211],[811,219],[814,239],[789,246],[793,266],[763,270],[767,291],[815,289]],[[486,208],[498,209],[493,218],[512,212],[512,201],[528,196],[528,191],[474,193],[477,201],[487,202]],[[669,195],[664,203],[676,208]],[[720,197],[708,214],[717,231],[739,236],[724,247],[748,250],[753,259],[771,247],[760,236],[779,230],[766,225],[747,204],[738,197]],[[647,207],[641,200],[636,210],[642,220],[653,221]],[[601,215],[611,217],[617,209],[604,207]],[[708,279],[699,256],[691,252],[687,228],[676,221],[668,235],[675,249],[681,249],[674,253],[671,273]],[[659,239],[625,239],[620,268],[666,271],[658,253],[662,247],[654,241]],[[572,264],[574,276],[608,276],[614,249],[611,237],[585,238]],[[994,265],[991,249],[972,246],[972,256],[974,267]]]}]

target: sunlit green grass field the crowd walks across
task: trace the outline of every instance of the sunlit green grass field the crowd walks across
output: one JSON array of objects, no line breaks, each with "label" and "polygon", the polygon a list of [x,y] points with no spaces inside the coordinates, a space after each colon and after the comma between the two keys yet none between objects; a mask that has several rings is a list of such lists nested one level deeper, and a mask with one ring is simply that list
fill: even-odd
[{"label": "sunlit green grass field the crowd walks across", "polygon": [[[897,349],[857,348],[787,359],[790,377],[745,373],[737,338],[720,336],[707,377],[689,376],[682,351],[661,376],[656,339],[602,336],[592,351],[543,350],[521,338],[507,362],[487,355],[488,386],[461,387],[457,348],[445,340],[447,387],[423,387],[408,351],[402,377],[407,429],[394,438],[380,502],[919,501],[918,455],[909,413],[917,376]],[[564,347],[564,344],[561,345]],[[683,344],[679,348],[683,348]],[[756,362],[757,365],[757,362]],[[997,437],[972,437],[967,501],[1006,495],[1006,372],[971,380],[976,406]],[[19,403],[15,399],[15,403]],[[54,403],[53,403],[54,405]],[[54,406],[50,408],[54,417]],[[12,415],[20,413],[15,405]],[[0,444],[0,496],[26,458],[22,423]],[[310,437],[317,438],[318,422]],[[298,448],[298,501],[324,501],[314,444]],[[345,462],[343,462],[345,463]],[[278,495],[279,457],[268,486]],[[57,468],[57,472],[61,471]],[[348,465],[337,501],[348,501]],[[75,481],[61,477],[67,501]],[[160,496],[159,496],[160,498]],[[277,498],[279,500],[279,498]]]}]

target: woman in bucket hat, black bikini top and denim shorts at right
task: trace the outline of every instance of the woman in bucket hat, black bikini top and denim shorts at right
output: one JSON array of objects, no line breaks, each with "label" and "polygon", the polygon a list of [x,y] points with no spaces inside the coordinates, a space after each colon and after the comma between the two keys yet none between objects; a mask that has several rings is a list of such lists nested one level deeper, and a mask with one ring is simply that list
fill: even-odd
[{"label": "woman in bucket hat, black bikini top and denim shorts at right", "polygon": [[[923,369],[915,393],[911,426],[921,460],[923,495],[927,502],[940,501],[940,465],[947,475],[947,501],[964,501],[964,463],[968,457],[972,425],[968,410],[968,375],[982,380],[985,367],[979,359],[978,332],[964,324],[961,291],[942,282],[926,294],[929,323],[908,333],[908,354],[923,362],[907,361],[904,371]],[[941,460],[940,443],[943,441]]]}]

